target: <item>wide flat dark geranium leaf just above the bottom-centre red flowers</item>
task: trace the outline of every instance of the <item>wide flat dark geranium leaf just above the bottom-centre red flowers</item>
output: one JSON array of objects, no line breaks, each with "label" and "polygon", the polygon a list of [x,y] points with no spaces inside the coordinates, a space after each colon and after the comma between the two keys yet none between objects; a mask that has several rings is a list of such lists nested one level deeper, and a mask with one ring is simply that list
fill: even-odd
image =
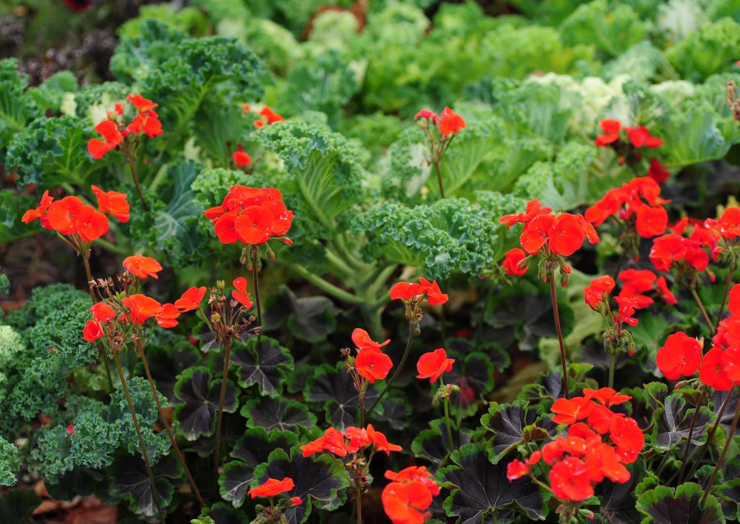
[{"label": "wide flat dark geranium leaf just above the bottom-centre red flowers", "polygon": [[281,397],[249,400],[240,413],[248,419],[247,427],[260,427],[268,432],[292,431],[297,426],[310,429],[316,425],[316,417],[305,404]]}]

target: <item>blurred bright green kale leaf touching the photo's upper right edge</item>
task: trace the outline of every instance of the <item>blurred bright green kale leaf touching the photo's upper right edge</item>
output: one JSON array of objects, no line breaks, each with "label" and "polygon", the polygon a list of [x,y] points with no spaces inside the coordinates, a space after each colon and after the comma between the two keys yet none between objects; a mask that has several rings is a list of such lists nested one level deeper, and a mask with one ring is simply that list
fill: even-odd
[{"label": "blurred bright green kale leaf touching the photo's upper right edge", "polygon": [[726,70],[740,47],[740,24],[729,17],[707,24],[671,47],[666,56],[690,81],[702,81]]}]

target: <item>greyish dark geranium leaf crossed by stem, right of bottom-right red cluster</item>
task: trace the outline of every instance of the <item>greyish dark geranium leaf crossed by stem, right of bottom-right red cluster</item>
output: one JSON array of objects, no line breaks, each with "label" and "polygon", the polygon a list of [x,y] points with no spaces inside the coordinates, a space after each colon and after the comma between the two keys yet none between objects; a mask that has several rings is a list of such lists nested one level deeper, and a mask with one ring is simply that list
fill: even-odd
[{"label": "greyish dark geranium leaf crossed by stem, right of bottom-right red cluster", "polygon": [[[655,422],[651,438],[653,446],[657,449],[670,449],[677,446],[682,439],[688,438],[695,411],[696,409],[689,409],[680,394],[673,393],[666,397],[663,407],[656,409],[653,414]],[[691,435],[692,443],[697,445],[702,443],[701,437],[707,429],[709,420],[710,411],[702,406]]]}]

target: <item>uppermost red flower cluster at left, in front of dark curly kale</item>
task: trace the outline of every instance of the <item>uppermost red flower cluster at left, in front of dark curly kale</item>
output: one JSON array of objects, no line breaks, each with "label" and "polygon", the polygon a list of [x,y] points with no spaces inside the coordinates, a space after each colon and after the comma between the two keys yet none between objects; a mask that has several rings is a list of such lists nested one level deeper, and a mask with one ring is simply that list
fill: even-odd
[{"label": "uppermost red flower cluster at left, in front of dark curly kale", "polygon": [[95,131],[100,133],[104,140],[90,138],[87,142],[87,152],[90,152],[92,158],[96,160],[103,158],[107,152],[121,145],[124,138],[129,135],[146,134],[149,138],[154,138],[162,134],[162,123],[154,110],[158,104],[141,95],[129,94],[127,100],[137,110],[137,115],[124,127],[118,118],[124,114],[124,108],[121,104],[115,104],[115,111],[109,111],[108,118],[95,126]]}]

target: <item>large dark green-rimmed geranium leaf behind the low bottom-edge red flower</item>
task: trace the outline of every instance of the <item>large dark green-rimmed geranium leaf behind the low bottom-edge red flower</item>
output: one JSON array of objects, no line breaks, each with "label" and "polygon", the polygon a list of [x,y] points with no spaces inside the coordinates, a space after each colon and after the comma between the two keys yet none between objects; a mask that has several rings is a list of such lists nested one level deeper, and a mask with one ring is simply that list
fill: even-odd
[{"label": "large dark green-rimmed geranium leaf behind the low bottom-edge red flower", "polygon": [[289,524],[306,522],[312,505],[333,511],[346,500],[345,488],[349,486],[344,475],[326,454],[303,457],[298,446],[289,453],[275,449],[266,463],[255,469],[252,487],[259,486],[268,478],[290,477],[295,486],[283,494],[285,497],[300,497],[301,504],[283,512]]}]

